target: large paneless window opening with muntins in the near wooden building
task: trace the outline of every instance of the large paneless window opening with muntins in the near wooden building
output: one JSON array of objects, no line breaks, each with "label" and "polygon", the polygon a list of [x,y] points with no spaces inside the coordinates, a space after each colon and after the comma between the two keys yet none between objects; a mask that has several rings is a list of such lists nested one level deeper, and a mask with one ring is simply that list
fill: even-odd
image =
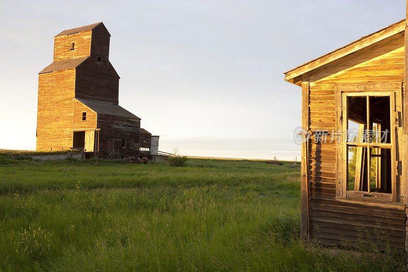
[{"label": "large paneless window opening with muntins in the near wooden building", "polygon": [[347,190],[392,193],[390,96],[347,97]]}]

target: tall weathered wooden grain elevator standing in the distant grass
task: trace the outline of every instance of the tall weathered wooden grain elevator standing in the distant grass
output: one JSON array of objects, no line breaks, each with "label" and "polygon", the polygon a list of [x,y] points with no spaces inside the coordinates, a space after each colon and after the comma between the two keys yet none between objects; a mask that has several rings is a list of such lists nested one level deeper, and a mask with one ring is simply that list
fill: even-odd
[{"label": "tall weathered wooden grain elevator standing in the distant grass", "polygon": [[159,136],[141,131],[140,118],[118,105],[110,37],[102,22],[54,37],[54,61],[39,72],[37,151],[77,148],[98,157],[157,154]]}]

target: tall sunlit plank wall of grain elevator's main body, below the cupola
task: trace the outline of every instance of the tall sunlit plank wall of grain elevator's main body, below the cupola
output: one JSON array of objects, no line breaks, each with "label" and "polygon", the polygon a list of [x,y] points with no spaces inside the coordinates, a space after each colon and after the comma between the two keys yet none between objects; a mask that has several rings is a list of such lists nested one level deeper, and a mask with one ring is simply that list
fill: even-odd
[{"label": "tall sunlit plank wall of grain elevator's main body, below the cupola", "polygon": [[74,82],[74,69],[39,75],[36,150],[72,147]]}]

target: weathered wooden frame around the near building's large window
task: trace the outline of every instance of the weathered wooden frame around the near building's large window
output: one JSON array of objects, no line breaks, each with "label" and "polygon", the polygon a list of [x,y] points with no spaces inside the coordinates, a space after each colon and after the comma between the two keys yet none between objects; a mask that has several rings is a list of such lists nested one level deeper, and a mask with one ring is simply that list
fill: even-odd
[{"label": "weathered wooden frame around the near building's large window", "polygon": [[[336,84],[335,86],[335,107],[336,107],[336,131],[341,132],[337,139],[337,181],[336,199],[342,201],[362,201],[373,203],[399,203],[400,186],[398,185],[399,152],[398,139],[400,138],[400,110],[402,108],[401,82],[395,83],[366,83],[366,84]],[[390,148],[391,149],[391,193],[379,193],[365,191],[347,190],[348,185],[348,149],[347,149],[347,97],[349,96],[389,96],[390,97],[390,144],[381,143],[359,143],[359,145]],[[367,120],[369,123],[369,120]],[[402,128],[401,128],[402,129]],[[398,135],[398,139],[396,139]],[[356,144],[353,144],[356,145]],[[369,155],[367,149],[367,155]],[[369,157],[369,156],[368,156]],[[369,159],[369,158],[368,158]]]}]

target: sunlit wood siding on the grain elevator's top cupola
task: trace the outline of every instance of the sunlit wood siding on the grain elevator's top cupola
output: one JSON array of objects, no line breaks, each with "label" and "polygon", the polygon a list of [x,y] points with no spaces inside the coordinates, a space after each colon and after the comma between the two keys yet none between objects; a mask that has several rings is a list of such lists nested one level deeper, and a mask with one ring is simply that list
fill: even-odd
[{"label": "sunlit wood siding on the grain elevator's top cupola", "polygon": [[[54,61],[81,58],[90,55],[92,31],[72,35],[59,36],[54,39]],[[74,42],[74,50],[71,43]]]}]

